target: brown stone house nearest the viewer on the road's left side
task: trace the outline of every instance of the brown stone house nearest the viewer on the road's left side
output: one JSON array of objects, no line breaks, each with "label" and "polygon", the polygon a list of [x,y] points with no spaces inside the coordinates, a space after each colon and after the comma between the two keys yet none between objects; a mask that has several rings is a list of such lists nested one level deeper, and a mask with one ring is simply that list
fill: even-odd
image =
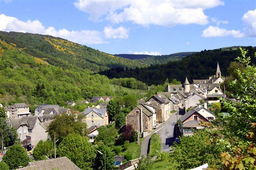
[{"label": "brown stone house nearest the viewer on the road's left side", "polygon": [[128,115],[126,115],[126,125],[128,124],[132,125],[137,131],[139,128],[142,136],[146,137],[147,133],[157,127],[154,106],[146,103],[136,106],[130,113],[128,113]]}]

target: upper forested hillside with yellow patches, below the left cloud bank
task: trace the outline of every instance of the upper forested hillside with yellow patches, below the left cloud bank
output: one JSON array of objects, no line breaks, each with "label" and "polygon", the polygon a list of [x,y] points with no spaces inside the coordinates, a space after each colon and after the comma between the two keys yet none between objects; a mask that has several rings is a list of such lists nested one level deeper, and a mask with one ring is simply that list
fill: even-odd
[{"label": "upper forested hillside with yellow patches, below the left cloud bank", "polygon": [[9,44],[15,44],[20,51],[62,68],[70,68],[75,65],[98,72],[120,66],[125,68],[146,66],[138,61],[116,57],[49,35],[0,31],[0,39]]}]

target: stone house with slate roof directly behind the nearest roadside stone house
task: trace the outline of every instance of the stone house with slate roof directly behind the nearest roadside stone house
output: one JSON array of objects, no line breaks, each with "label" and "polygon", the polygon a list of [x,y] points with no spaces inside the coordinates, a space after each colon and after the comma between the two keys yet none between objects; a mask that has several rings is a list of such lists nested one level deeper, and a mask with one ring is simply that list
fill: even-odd
[{"label": "stone house with slate roof directly behind the nearest roadside stone house", "polygon": [[146,104],[154,107],[157,122],[163,123],[170,117],[170,100],[164,95],[151,96],[151,98],[146,101]]}]

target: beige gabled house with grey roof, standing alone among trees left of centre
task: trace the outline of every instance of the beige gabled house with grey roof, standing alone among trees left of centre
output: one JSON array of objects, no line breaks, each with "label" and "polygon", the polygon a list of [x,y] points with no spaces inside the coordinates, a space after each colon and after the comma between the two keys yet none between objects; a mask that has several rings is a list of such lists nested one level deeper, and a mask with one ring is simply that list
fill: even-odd
[{"label": "beige gabled house with grey roof, standing alone among trees left of centre", "polygon": [[108,125],[108,111],[106,108],[87,108],[84,115],[84,121],[86,121],[88,127]]}]

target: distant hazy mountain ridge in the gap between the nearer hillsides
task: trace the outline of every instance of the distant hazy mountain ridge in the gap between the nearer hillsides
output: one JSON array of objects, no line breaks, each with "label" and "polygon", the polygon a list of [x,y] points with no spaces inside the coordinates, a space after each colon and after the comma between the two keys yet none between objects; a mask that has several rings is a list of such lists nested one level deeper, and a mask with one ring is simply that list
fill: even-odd
[{"label": "distant hazy mountain ridge in the gap between the nearer hillsides", "polygon": [[170,55],[144,55],[144,54],[115,54],[115,56],[136,60],[147,65],[166,64],[169,61],[178,61],[183,57],[196,52],[180,52]]}]

